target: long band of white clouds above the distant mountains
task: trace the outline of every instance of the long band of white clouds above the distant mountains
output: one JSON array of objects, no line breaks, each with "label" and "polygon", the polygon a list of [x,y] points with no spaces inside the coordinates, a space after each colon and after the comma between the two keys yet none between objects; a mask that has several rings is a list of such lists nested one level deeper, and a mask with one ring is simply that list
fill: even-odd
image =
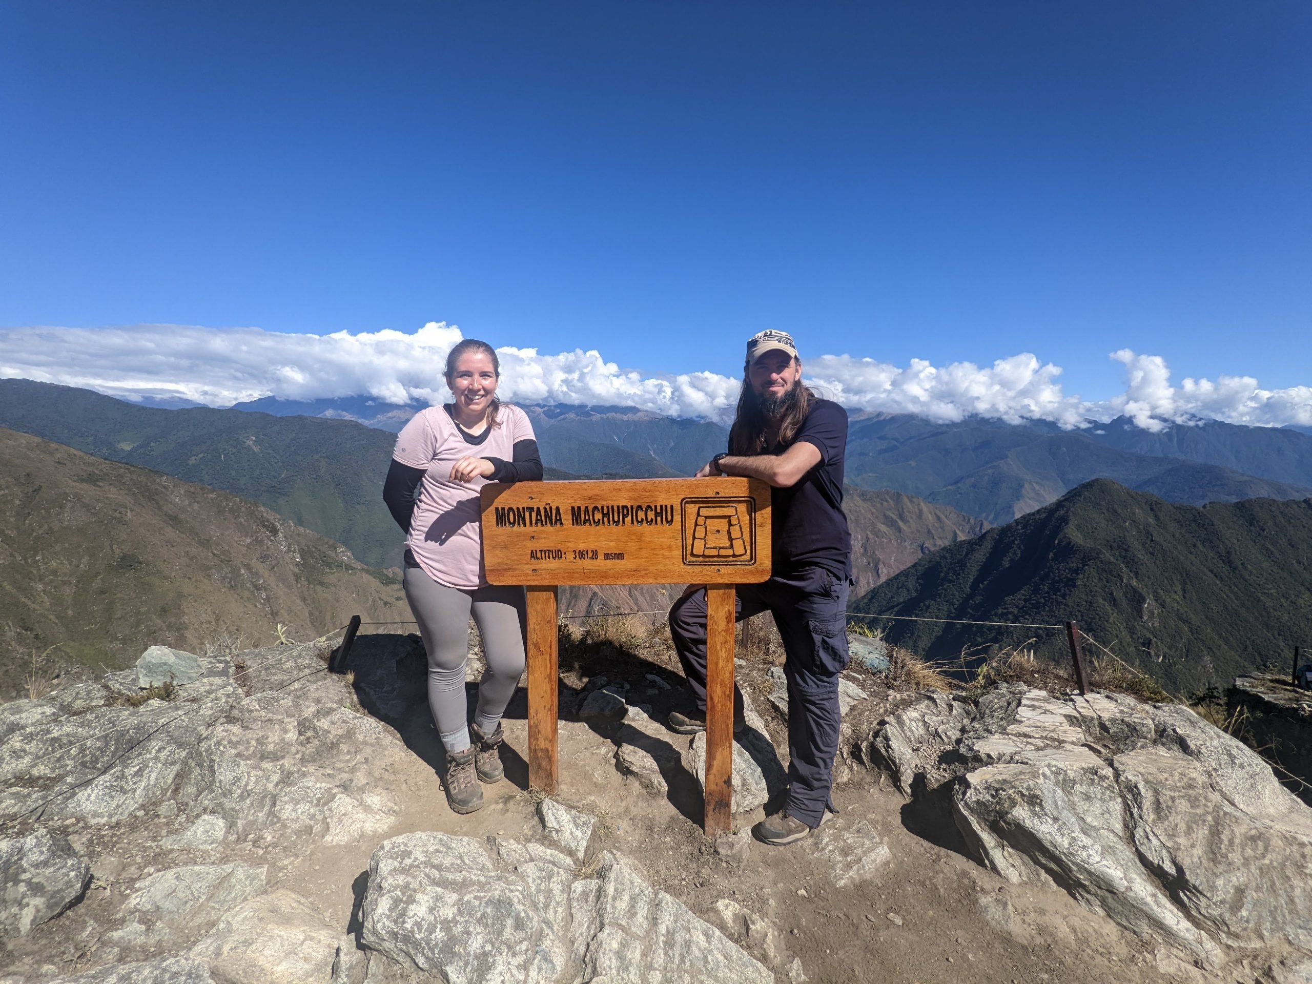
[{"label": "long band of white clouds above the distant mountains", "polygon": [[[312,400],[369,395],[387,403],[436,403],[446,396],[446,353],[463,337],[432,321],[417,332],[285,335],[258,328],[138,325],[131,328],[14,328],[0,331],[0,377],[80,386],[140,398],[181,398],[226,407],[260,396]],[[501,394],[523,403],[619,404],[672,416],[724,420],[739,379],[716,373],[622,371],[598,352],[543,354],[497,349]],[[1130,349],[1124,391],[1101,403],[1067,395],[1061,369],[1029,353],[992,366],[820,356],[806,361],[808,382],[853,409],[917,413],[955,421],[971,415],[1012,422],[1047,420],[1065,428],[1124,413],[1143,428],[1214,417],[1236,424],[1312,425],[1312,387],[1262,390],[1250,377],[1170,383],[1160,356]]]}]

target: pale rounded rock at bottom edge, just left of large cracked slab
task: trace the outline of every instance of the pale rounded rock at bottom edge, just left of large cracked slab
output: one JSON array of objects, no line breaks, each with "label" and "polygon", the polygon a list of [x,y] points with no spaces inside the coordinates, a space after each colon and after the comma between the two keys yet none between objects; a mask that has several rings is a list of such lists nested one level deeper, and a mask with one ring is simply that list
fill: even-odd
[{"label": "pale rounded rock at bottom edge, just left of large cracked slab", "polygon": [[190,955],[222,981],[324,984],[340,942],[308,901],[278,890],[226,913]]}]

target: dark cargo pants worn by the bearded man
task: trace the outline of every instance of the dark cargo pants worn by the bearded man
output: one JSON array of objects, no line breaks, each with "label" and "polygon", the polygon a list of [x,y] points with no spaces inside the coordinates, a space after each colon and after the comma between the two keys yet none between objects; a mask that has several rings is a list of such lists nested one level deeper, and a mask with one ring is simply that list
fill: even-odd
[{"label": "dark cargo pants worn by the bearded man", "polygon": [[[829,806],[838,752],[838,672],[848,665],[848,581],[807,567],[762,584],[740,584],[736,593],[735,621],[769,611],[783,636],[790,760],[786,808],[808,827],[819,827]],[[705,710],[705,588],[674,602],[669,630],[697,706]]]}]

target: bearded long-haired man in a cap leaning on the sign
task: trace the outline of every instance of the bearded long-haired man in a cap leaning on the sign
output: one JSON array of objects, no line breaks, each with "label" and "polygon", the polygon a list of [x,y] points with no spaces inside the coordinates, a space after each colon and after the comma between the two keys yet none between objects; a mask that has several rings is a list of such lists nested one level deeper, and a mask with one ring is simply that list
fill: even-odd
[{"label": "bearded long-haired man in a cap leaning on the sign", "polygon": [[[808,836],[833,811],[833,757],[838,750],[838,672],[848,665],[848,585],[851,537],[842,512],[848,413],[802,384],[792,336],[766,331],[747,345],[743,392],[729,450],[698,472],[762,479],[771,485],[773,568],[764,584],[737,588],[736,618],[770,611],[783,636],[789,682],[789,798],[753,828],[783,845]],[[691,590],[669,611],[674,648],[699,710],[672,714],[680,733],[706,728],[706,589]],[[743,727],[733,695],[735,731]],[[834,811],[837,812],[837,811]]]}]

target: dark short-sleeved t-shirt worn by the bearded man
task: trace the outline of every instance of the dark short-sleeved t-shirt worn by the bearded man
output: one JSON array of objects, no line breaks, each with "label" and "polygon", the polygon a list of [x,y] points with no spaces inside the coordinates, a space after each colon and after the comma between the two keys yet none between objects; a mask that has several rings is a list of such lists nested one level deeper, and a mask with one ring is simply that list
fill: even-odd
[{"label": "dark short-sleeved t-shirt worn by the bearded man", "polygon": [[799,441],[819,449],[820,463],[791,488],[770,489],[773,572],[815,565],[851,577],[851,534],[842,512],[848,411],[833,400],[815,400],[792,441],[775,446],[774,453]]}]

